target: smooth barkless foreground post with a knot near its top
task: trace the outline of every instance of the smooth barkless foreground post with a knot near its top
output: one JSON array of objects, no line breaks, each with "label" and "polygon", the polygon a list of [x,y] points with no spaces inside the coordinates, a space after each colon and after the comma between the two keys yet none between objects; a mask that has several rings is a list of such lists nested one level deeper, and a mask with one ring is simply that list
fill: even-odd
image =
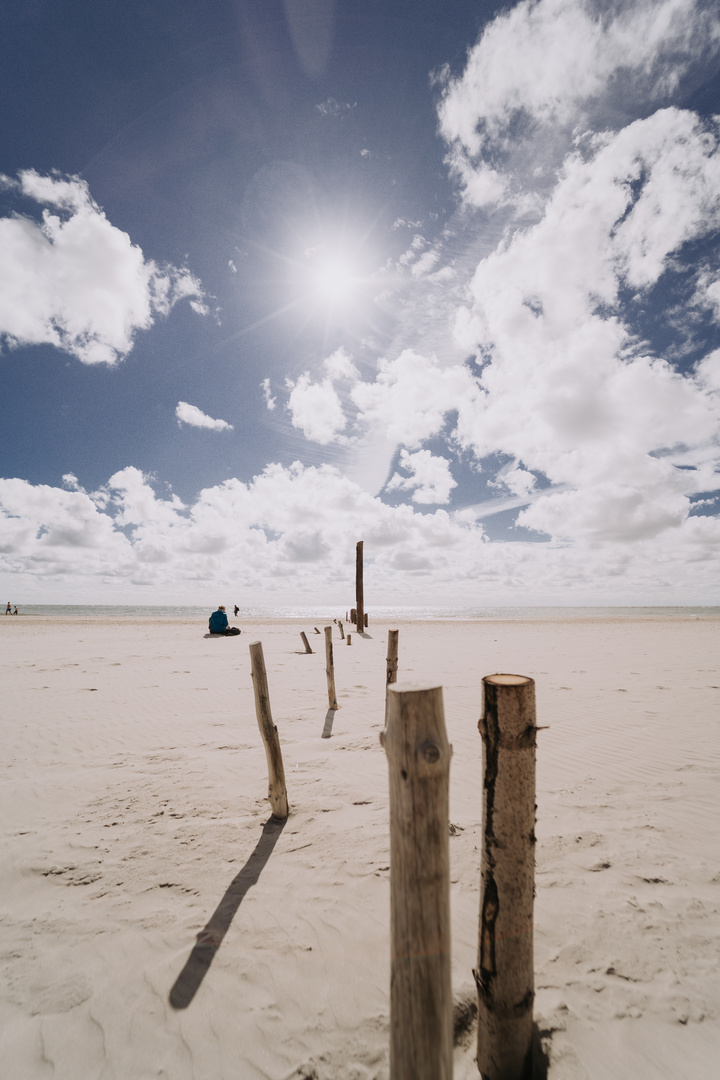
[{"label": "smooth barkless foreground post with a knot near its top", "polygon": [[443,688],[391,686],[380,741],[390,771],[390,1075],[451,1080],[452,747]]}]

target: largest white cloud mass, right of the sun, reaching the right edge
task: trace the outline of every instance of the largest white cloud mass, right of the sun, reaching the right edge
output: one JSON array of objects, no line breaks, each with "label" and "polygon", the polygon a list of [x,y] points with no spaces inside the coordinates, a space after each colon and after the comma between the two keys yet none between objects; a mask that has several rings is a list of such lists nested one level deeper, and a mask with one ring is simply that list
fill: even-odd
[{"label": "largest white cloud mass, right of the sun, reaching the right edge", "polygon": [[576,489],[535,500],[522,524],[631,541],[687,516],[688,496],[708,478],[680,478],[675,456],[697,464],[718,436],[710,362],[698,381],[634,354],[617,305],[622,286],[652,287],[676,271],[684,243],[718,225],[716,138],[665,109],[588,160],[572,156],[538,225],[477,267],[458,330],[491,363],[484,392],[460,405],[458,438],[479,458],[521,458]]}]

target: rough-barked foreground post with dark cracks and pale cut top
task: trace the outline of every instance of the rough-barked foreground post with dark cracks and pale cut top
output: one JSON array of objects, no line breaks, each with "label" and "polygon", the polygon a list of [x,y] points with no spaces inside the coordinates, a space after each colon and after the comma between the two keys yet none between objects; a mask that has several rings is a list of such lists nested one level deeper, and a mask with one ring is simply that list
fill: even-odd
[{"label": "rough-barked foreground post with dark cracks and pale cut top", "polygon": [[535,870],[535,684],[487,675],[477,1067],[484,1080],[532,1075],[532,901]]}]

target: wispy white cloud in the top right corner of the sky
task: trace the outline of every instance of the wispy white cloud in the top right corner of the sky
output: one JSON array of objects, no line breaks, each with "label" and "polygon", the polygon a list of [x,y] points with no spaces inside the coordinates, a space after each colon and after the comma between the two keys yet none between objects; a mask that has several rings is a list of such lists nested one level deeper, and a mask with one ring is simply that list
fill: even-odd
[{"label": "wispy white cloud in the top right corner of the sky", "polygon": [[578,132],[647,113],[719,45],[699,0],[526,0],[497,16],[462,75],[446,73],[438,110],[467,201],[521,198],[518,168],[552,180]]}]

